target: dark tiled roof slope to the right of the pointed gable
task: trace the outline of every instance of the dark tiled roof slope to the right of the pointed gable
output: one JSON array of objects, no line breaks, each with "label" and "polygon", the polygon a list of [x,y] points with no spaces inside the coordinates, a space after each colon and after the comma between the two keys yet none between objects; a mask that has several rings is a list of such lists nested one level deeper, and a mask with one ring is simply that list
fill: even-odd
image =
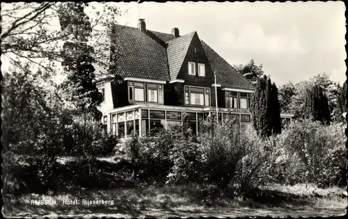
[{"label": "dark tiled roof slope to the right of the pointed gable", "polygon": [[212,71],[216,72],[216,83],[227,88],[254,90],[251,83],[236,72],[235,68],[219,56],[214,49],[209,47],[203,40],[200,40],[200,42],[205,51],[205,56],[209,60],[210,67],[212,67]]}]

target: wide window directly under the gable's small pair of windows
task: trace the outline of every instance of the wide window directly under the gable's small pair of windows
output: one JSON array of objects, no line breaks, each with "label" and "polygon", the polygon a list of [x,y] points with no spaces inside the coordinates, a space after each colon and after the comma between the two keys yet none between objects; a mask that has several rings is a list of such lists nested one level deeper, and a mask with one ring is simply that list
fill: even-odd
[{"label": "wide window directly under the gable's small pair of windows", "polygon": [[185,105],[209,106],[209,89],[185,86]]}]

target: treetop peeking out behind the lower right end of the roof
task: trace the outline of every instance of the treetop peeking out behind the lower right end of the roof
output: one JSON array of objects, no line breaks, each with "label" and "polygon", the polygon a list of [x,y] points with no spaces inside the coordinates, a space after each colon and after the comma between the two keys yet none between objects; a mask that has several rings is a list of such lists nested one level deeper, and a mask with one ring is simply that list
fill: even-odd
[{"label": "treetop peeking out behind the lower right end of the roof", "polygon": [[239,74],[242,74],[248,81],[251,81],[253,85],[255,85],[258,82],[258,78],[264,74],[262,64],[255,65],[253,59],[245,65],[234,65],[233,67]]}]

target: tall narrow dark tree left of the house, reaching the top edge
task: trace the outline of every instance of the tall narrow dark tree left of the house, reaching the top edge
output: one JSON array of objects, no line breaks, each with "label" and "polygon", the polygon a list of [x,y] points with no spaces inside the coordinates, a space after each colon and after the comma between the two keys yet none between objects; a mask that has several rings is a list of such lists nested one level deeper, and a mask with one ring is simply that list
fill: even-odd
[{"label": "tall narrow dark tree left of the house, reaching the top edge", "polygon": [[72,35],[72,39],[63,44],[63,68],[68,78],[63,88],[68,90],[72,102],[81,112],[93,113],[95,120],[101,115],[97,106],[102,102],[102,94],[97,90],[93,80],[95,68],[93,63],[93,47],[88,45],[92,27],[88,16],[84,13],[86,3],[68,2],[61,5],[59,22],[61,31]]}]

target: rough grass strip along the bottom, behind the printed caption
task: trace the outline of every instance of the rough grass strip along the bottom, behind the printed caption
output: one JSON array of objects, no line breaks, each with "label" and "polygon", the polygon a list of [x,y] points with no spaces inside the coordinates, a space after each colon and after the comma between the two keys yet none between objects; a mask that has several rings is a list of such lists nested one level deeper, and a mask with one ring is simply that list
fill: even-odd
[{"label": "rough grass strip along the bottom, behind the printed caption", "polygon": [[[54,195],[4,195],[5,216],[87,216],[122,218],[235,217],[235,216],[339,216],[345,214],[343,188],[319,189],[313,185],[268,186],[246,197],[228,192],[207,204],[200,186],[148,186],[112,190],[74,190]],[[56,205],[35,205],[31,200],[55,200]],[[78,204],[63,204],[77,200]],[[82,200],[112,200],[109,204],[82,204]]]}]

